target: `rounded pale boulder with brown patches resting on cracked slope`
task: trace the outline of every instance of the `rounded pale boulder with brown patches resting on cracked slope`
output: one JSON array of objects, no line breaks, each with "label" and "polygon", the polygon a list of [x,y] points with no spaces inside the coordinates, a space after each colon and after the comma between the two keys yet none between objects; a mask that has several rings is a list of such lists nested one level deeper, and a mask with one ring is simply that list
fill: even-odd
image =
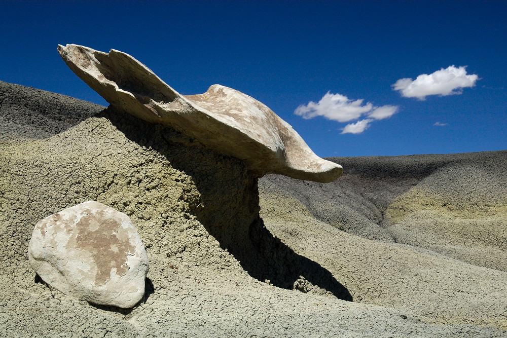
[{"label": "rounded pale boulder with brown patches resting on cracked slope", "polygon": [[94,304],[131,308],[144,295],[148,256],[130,218],[88,201],[37,223],[31,267],[49,285]]}]

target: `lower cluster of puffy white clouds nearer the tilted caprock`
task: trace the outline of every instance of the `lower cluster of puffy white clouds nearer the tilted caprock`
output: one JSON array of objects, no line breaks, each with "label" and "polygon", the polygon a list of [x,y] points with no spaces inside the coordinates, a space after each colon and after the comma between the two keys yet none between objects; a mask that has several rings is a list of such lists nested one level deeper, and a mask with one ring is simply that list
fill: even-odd
[{"label": "lower cluster of puffy white clouds nearer the tilted caprock", "polygon": [[370,127],[373,121],[389,118],[399,108],[394,105],[377,107],[370,102],[365,104],[363,102],[363,99],[350,100],[345,95],[328,92],[318,102],[310,101],[308,104],[300,105],[296,108],[294,114],[303,117],[303,119],[323,116],[324,118],[338,122],[349,122],[366,117],[356,123],[350,123],[342,129],[342,134],[359,134]]}]

